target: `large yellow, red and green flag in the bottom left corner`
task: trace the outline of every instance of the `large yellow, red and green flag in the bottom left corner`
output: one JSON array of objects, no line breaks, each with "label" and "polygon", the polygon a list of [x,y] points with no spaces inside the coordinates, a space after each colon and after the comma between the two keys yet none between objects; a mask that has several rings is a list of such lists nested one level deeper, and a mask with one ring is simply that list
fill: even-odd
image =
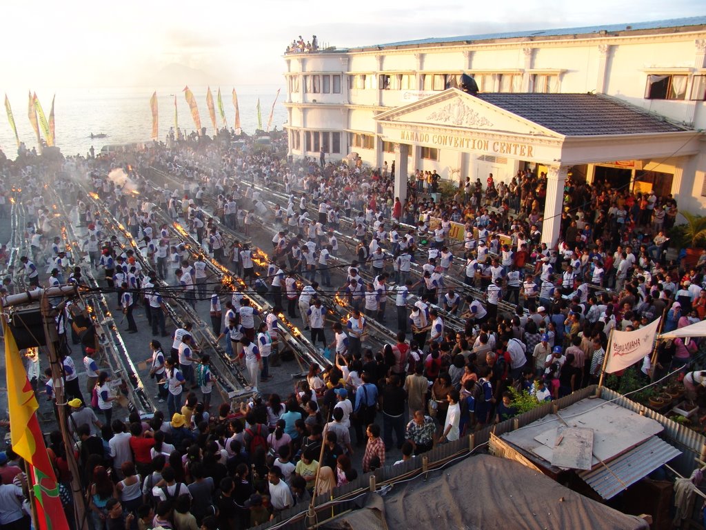
[{"label": "large yellow, red and green flag in the bottom left corner", "polygon": [[59,485],[37,420],[39,404],[27,379],[15,337],[5,322],[3,334],[12,449],[27,463],[37,512],[37,530],[68,530],[64,508],[59,499]]}]

